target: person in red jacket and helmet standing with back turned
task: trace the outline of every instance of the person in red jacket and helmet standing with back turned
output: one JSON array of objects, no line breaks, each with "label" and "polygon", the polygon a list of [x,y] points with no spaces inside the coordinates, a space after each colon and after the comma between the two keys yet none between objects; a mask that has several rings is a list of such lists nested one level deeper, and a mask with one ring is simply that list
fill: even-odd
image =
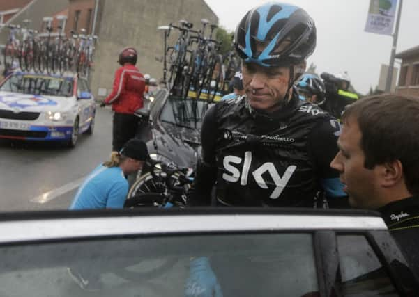
[{"label": "person in red jacket and helmet standing with back turned", "polygon": [[119,152],[124,143],[134,138],[139,121],[134,113],[143,107],[145,79],[135,67],[137,56],[137,50],[133,47],[121,50],[118,59],[121,67],[115,72],[112,93],[102,104],[112,104],[114,111],[112,151],[115,152]]}]

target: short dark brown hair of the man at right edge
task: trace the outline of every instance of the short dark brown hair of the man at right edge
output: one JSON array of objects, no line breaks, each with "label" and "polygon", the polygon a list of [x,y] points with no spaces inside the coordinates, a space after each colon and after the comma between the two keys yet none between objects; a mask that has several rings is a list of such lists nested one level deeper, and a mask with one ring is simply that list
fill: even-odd
[{"label": "short dark brown hair of the man at right edge", "polygon": [[348,106],[342,122],[358,122],[365,168],[399,160],[406,187],[419,194],[419,98],[383,94],[365,97]]}]

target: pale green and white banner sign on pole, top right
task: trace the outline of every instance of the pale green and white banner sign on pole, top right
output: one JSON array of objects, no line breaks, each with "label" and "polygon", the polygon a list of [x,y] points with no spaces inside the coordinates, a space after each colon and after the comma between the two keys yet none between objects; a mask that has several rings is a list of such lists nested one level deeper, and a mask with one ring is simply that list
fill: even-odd
[{"label": "pale green and white banner sign on pole, top right", "polygon": [[392,35],[397,0],[370,0],[365,31],[376,34]]}]

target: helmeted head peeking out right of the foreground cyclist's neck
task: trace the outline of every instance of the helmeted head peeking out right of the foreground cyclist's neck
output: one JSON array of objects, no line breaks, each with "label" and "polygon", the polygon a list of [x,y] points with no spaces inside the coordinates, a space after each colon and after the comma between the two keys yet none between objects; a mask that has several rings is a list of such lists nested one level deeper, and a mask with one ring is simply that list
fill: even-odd
[{"label": "helmeted head peeking out right of the foreground cyclist's neck", "polygon": [[316,74],[303,74],[297,81],[296,86],[300,99],[319,106],[323,105],[326,99],[326,88],[323,81]]}]

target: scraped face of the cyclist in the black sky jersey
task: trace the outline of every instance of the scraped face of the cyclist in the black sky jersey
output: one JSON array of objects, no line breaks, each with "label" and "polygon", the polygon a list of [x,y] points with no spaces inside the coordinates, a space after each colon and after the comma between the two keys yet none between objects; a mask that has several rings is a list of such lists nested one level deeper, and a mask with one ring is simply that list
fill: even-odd
[{"label": "scraped face of the cyclist in the black sky jersey", "polygon": [[[243,86],[250,106],[264,111],[279,109],[288,90],[289,67],[262,67],[243,63]],[[288,98],[287,98],[288,99]]]}]

